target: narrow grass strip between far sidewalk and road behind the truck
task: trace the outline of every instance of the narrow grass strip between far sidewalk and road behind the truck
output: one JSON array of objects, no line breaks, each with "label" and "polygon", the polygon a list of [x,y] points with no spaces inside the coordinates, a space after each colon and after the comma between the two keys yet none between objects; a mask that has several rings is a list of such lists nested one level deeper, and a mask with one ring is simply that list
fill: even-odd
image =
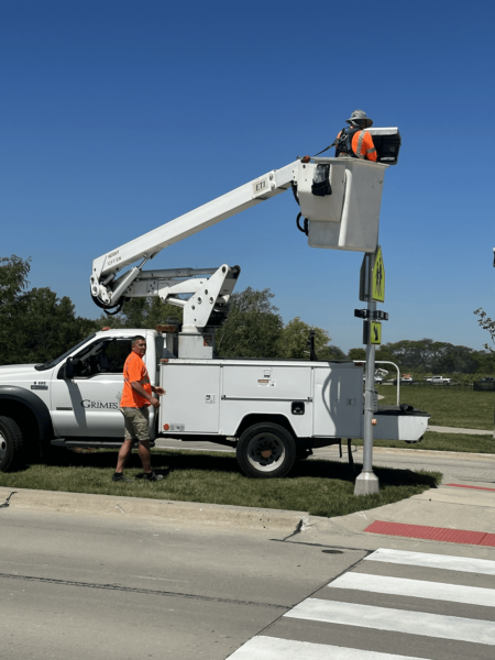
[{"label": "narrow grass strip between far sidewalk and road behind the truck", "polygon": [[[362,440],[353,440],[362,446]],[[495,454],[495,440],[493,436],[469,436],[468,433],[436,433],[428,431],[421,442],[408,444],[402,440],[373,440],[374,447],[395,447],[398,449],[430,449],[433,451],[461,451],[473,453]]]}]

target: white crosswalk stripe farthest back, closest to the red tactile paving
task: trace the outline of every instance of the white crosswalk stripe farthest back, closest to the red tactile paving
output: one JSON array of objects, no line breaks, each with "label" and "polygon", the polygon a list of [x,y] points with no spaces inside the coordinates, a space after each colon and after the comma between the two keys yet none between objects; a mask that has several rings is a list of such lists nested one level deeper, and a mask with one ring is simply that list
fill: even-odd
[{"label": "white crosswalk stripe farthest back, closest to the red tactile paving", "polygon": [[430,554],[428,552],[408,552],[406,550],[388,550],[380,548],[364,558],[366,561],[383,561],[387,563],[411,564],[448,571],[465,573],[483,573],[495,575],[495,561],[490,559],[473,559],[471,557],[450,557],[448,554]]}]

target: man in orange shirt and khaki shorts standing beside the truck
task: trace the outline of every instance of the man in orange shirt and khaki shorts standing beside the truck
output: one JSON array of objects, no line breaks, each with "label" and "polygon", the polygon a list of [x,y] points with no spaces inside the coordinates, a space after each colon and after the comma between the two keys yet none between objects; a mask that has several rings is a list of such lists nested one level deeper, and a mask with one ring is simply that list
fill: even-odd
[{"label": "man in orange shirt and khaki shorts standing beside the truck", "polygon": [[139,441],[139,454],[143,463],[145,481],[160,481],[162,474],[155,474],[151,466],[150,452],[150,413],[148,407],[160,408],[160,400],[153,396],[165,394],[163,387],[154,387],[150,383],[146,365],[143,358],[146,354],[146,340],[141,334],[132,338],[132,353],[125,360],[123,369],[124,386],[120,399],[120,410],[125,420],[124,441],[119,451],[117,470],[112,476],[114,482],[130,482],[123,475],[123,469],[131,455],[134,442]]}]

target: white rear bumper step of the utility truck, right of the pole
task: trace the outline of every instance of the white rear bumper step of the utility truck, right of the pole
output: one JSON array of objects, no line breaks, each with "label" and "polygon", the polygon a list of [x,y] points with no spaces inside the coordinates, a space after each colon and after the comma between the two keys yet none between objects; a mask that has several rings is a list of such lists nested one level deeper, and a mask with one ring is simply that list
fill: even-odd
[{"label": "white rear bumper step of the utility truck, right of the pole", "polygon": [[378,406],[374,417],[376,419],[373,430],[375,440],[419,442],[428,429],[428,420],[431,415],[416,408],[404,410],[399,406]]}]

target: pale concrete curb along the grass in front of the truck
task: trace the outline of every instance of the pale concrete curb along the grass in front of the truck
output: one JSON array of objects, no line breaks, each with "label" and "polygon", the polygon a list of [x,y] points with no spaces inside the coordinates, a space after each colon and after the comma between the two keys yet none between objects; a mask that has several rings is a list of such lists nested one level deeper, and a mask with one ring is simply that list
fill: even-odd
[{"label": "pale concrete curb along the grass in front of the truck", "polygon": [[[15,492],[10,499],[12,510],[37,510],[84,516],[113,516],[119,518],[152,518],[164,522],[194,522],[216,527],[277,530],[294,532],[309,520],[307,512],[251,508],[145,497],[90,495],[59,491],[31,491],[0,487],[0,502]],[[3,509],[4,510],[4,509]],[[0,516],[3,512],[0,510]]]}]

